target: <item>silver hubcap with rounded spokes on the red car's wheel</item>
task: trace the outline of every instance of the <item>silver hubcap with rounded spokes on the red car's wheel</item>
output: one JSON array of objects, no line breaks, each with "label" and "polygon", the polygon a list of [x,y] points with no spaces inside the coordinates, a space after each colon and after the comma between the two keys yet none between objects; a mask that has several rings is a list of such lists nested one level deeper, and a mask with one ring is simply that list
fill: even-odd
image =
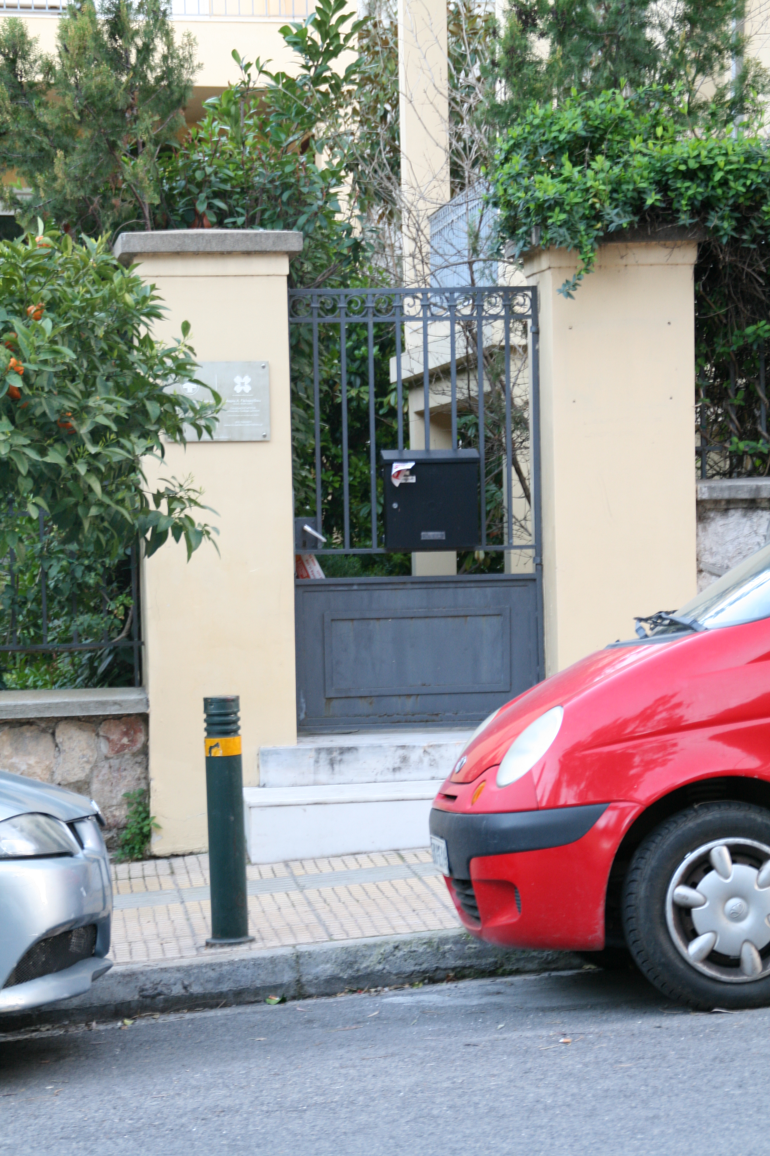
[{"label": "silver hubcap with rounded spokes on the red car's wheel", "polygon": [[728,984],[770,975],[770,847],[718,839],[674,872],[666,922],[691,968]]}]

